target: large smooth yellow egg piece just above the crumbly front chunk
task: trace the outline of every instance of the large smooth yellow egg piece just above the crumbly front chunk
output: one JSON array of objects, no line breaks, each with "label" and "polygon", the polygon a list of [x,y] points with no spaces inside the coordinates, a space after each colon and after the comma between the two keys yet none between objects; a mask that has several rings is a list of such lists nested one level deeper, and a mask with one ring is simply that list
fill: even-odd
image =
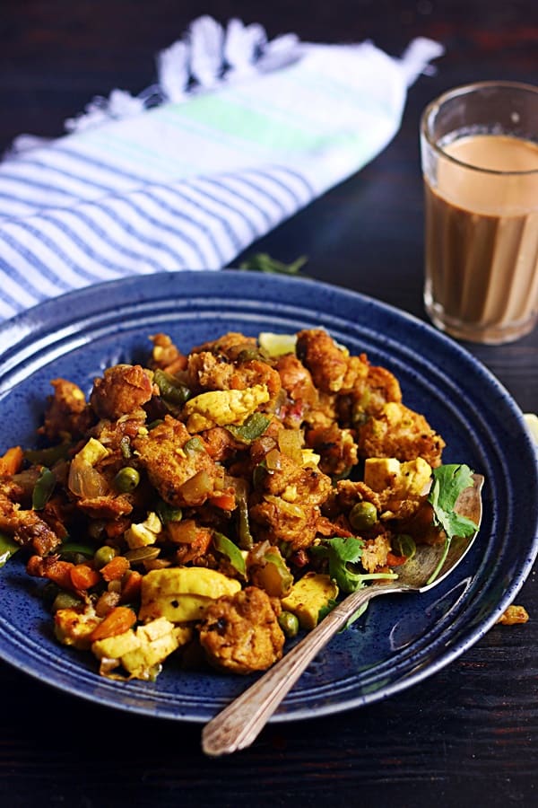
[{"label": "large smooth yellow egg piece just above the crumbly front chunk", "polygon": [[236,579],[203,566],[153,569],[143,576],[139,618],[164,617],[173,623],[197,620],[211,602],[240,588]]}]

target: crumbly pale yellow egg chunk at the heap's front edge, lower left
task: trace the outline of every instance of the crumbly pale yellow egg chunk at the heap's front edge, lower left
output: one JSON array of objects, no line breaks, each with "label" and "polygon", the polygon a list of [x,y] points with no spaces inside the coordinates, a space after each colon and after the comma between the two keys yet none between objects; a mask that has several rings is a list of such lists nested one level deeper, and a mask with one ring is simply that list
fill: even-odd
[{"label": "crumbly pale yellow egg chunk at the heap's front edge, lower left", "polygon": [[91,651],[100,660],[101,673],[108,673],[121,663],[132,678],[151,681],[166,657],[192,637],[192,628],[174,626],[159,618],[116,637],[96,640]]}]

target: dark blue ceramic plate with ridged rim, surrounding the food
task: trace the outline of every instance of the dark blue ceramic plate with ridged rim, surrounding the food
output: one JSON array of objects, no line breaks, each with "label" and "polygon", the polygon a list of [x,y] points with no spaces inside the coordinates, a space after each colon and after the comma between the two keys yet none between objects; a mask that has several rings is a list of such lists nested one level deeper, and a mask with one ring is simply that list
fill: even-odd
[{"label": "dark blue ceramic plate with ridged rim, surrounding the food", "polygon": [[[274,721],[320,716],[394,694],[473,645],[513,600],[537,550],[534,447],[508,393],[456,343],[420,321],[343,289],[239,272],[133,278],[65,295],[0,328],[0,450],[34,443],[49,381],[91,390],[109,364],[147,356],[165,331],[184,350],[227,330],[256,335],[323,327],[399,378],[404,402],[445,437],[445,462],[485,476],[479,539],[457,572],[430,593],[370,605],[338,635],[284,700]],[[56,644],[22,558],[0,572],[0,655],[23,672],[110,707],[205,721],[251,677],[182,672],[157,681],[100,678],[91,654]]]}]

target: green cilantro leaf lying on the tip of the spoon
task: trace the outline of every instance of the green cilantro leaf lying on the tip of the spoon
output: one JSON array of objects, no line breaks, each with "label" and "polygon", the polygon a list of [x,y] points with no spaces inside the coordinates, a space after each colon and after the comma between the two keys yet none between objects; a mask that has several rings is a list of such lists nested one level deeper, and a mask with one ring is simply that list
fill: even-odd
[{"label": "green cilantro leaf lying on the tip of the spoon", "polygon": [[454,536],[470,536],[477,529],[472,519],[456,514],[454,510],[457,497],[469,487],[473,487],[473,471],[469,466],[451,463],[433,470],[428,499],[435,522],[447,533],[449,540]]}]

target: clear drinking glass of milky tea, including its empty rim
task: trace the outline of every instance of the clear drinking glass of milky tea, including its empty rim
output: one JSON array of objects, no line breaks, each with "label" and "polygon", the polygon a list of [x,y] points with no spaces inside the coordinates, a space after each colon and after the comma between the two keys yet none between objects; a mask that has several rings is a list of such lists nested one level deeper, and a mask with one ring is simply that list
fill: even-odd
[{"label": "clear drinking glass of milky tea, including its empty rim", "polygon": [[421,117],[424,303],[456,338],[502,343],[538,321],[538,87],[482,82]]}]

